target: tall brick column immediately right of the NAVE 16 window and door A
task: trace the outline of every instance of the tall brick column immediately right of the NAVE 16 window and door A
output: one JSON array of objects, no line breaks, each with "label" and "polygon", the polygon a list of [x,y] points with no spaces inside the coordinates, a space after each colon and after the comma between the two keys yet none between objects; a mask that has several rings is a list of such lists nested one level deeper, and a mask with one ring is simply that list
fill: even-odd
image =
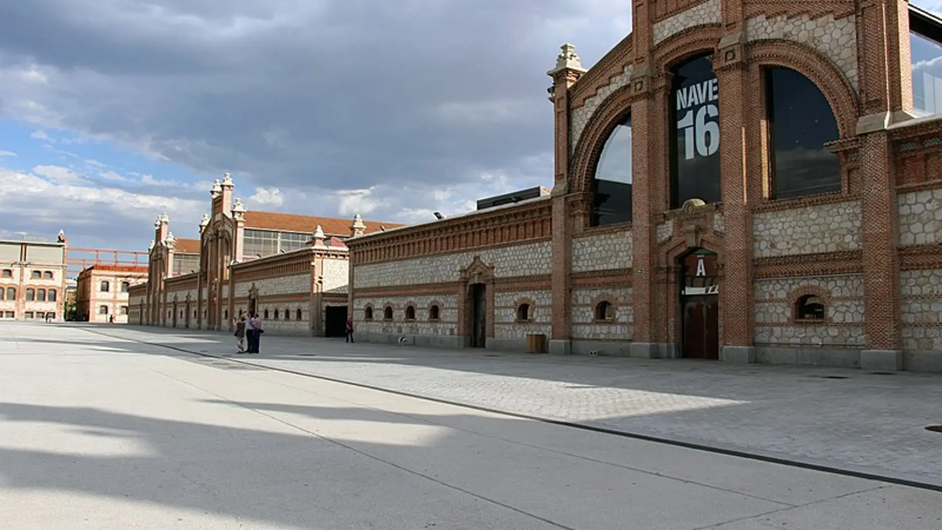
[{"label": "tall brick column immediately right of the NAVE 16 window and door A", "polygon": [[755,362],[753,345],[753,219],[746,169],[749,149],[744,61],[745,34],[736,32],[720,40],[713,70],[720,84],[720,156],[723,170],[723,316],[722,361]]}]

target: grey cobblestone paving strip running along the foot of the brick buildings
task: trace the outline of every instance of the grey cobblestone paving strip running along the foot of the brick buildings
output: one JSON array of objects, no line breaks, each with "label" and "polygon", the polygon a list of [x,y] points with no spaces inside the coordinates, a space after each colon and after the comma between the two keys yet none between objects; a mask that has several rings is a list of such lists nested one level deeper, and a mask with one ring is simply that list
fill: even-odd
[{"label": "grey cobblestone paving strip running along the foot of the brick buildings", "polygon": [[261,355],[236,356],[219,333],[98,330],[495,410],[942,484],[942,434],[925,429],[942,424],[938,375],[270,336]]}]

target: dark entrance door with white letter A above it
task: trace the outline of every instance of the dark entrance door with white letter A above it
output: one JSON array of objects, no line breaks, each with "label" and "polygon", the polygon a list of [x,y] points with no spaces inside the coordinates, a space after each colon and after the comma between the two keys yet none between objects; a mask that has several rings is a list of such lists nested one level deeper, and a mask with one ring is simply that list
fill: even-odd
[{"label": "dark entrance door with white letter A above it", "polygon": [[716,252],[694,249],[681,258],[681,348],[690,359],[720,359],[720,285]]}]

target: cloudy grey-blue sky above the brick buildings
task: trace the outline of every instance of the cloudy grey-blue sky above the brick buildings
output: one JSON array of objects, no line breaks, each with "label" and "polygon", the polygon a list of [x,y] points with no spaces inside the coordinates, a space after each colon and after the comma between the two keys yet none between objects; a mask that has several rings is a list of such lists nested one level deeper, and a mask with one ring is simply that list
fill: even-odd
[{"label": "cloudy grey-blue sky above the brick buildings", "polygon": [[192,237],[224,171],[252,209],[400,222],[551,185],[545,72],[630,5],[0,1],[0,237]]}]

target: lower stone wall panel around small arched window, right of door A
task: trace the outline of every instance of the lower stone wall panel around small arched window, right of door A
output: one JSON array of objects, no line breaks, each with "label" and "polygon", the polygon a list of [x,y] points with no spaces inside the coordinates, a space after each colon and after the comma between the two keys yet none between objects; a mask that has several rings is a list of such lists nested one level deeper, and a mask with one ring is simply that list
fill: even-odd
[{"label": "lower stone wall panel around small arched window, right of door A", "polygon": [[[866,346],[862,275],[756,280],[754,286],[756,346],[826,350],[859,350]],[[824,320],[796,320],[794,304],[798,297],[819,294],[826,302]],[[830,351],[825,354],[842,355]],[[837,363],[853,365],[851,359]]]}]

